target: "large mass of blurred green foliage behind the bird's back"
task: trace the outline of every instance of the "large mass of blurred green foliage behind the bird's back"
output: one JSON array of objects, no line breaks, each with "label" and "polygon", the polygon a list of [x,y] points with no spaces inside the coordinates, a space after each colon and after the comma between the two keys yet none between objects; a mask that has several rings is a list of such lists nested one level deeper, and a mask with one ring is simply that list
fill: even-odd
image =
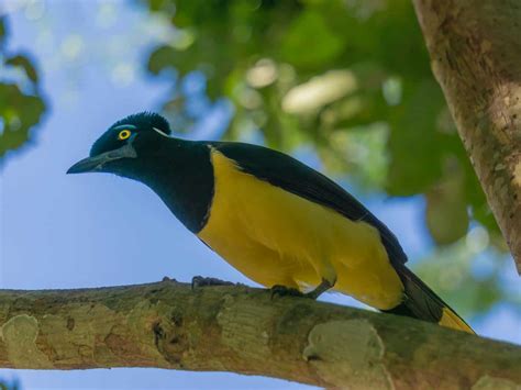
[{"label": "large mass of blurred green foliage behind the bird's back", "polygon": [[[500,258],[506,245],[432,76],[410,0],[143,1],[173,29],[151,53],[148,71],[175,85],[204,74],[208,96],[234,105],[224,138],[254,130],[286,152],[311,145],[330,174],[348,175],[366,191],[422,194],[437,246],[421,275],[469,312],[503,297],[501,261],[479,283],[470,270],[478,255],[468,246],[473,221],[485,232],[481,252],[491,244]],[[190,123],[179,89],[163,111]]]}]

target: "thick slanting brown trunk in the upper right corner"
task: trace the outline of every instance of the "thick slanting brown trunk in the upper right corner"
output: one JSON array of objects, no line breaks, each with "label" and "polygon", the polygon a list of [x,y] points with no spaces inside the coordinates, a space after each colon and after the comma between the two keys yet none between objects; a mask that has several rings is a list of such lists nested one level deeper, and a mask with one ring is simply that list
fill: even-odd
[{"label": "thick slanting brown trunk in the upper right corner", "polygon": [[433,73],[521,272],[521,3],[413,3]]}]

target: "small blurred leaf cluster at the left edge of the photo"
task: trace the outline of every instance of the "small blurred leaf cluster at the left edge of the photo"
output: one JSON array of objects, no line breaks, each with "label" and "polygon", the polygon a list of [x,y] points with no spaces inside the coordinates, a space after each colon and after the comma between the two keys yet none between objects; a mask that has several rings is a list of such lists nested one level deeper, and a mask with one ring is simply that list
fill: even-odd
[{"label": "small blurred leaf cluster at the left edge of the photo", "polygon": [[38,74],[27,56],[7,49],[7,20],[0,18],[0,164],[9,151],[31,140],[46,110]]}]

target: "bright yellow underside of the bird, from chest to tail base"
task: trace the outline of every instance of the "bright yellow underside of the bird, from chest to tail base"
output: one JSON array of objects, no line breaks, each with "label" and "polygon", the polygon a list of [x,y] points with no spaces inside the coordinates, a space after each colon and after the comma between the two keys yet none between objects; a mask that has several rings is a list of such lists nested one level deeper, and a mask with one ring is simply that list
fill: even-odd
[{"label": "bright yellow underside of the bird, from chest to tail base", "polygon": [[391,309],[403,286],[378,231],[239,170],[212,152],[215,188],[199,237],[256,282],[334,290]]}]

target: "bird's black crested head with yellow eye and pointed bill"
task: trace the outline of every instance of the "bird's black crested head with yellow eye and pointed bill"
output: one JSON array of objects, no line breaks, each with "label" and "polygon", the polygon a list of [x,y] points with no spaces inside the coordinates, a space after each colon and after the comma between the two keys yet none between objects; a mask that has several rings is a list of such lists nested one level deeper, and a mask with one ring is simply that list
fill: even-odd
[{"label": "bird's black crested head with yellow eye and pointed bill", "polygon": [[113,172],[125,175],[160,149],[168,137],[168,122],[156,113],[142,112],[111,125],[92,145],[90,156],[73,165],[67,174]]}]

